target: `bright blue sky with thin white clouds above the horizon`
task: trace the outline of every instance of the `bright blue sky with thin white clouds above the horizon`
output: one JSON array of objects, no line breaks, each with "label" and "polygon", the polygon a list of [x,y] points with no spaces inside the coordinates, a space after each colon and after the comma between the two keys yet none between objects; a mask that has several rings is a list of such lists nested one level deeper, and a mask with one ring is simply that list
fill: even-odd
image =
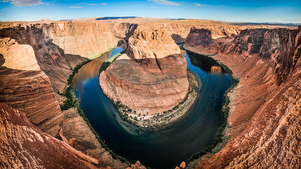
[{"label": "bright blue sky with thin white clouds above the horizon", "polygon": [[125,16],[209,19],[230,22],[301,23],[301,1],[0,0],[0,21]]}]

